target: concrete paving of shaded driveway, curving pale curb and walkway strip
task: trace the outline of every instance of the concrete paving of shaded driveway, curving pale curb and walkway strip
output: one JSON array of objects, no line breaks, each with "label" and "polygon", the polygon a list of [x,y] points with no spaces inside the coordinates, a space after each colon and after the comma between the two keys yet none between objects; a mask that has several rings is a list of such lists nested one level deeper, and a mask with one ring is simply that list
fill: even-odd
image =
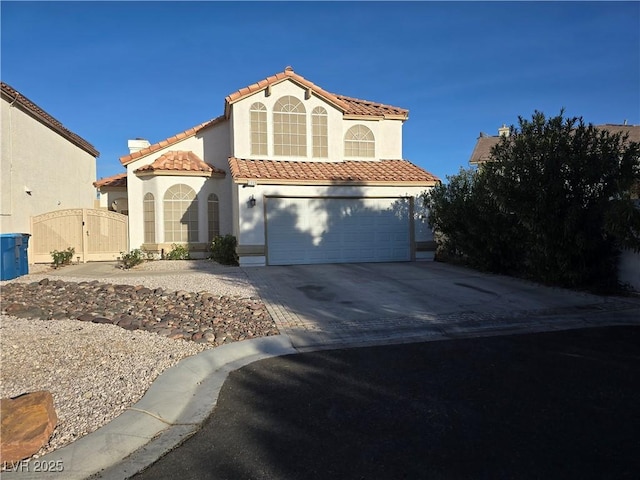
[{"label": "concrete paving of shaded driveway, curving pale curb and walkway strip", "polygon": [[[104,264],[67,268],[60,272],[105,278],[99,271]],[[38,459],[40,471],[31,462],[2,477],[129,478],[197,431],[229,372],[264,358],[337,347],[640,324],[637,297],[576,293],[433,262],[244,271],[282,335],[183,360],[115,420]],[[127,275],[114,274],[112,266],[110,272]],[[52,468],[43,472],[43,465]]]}]

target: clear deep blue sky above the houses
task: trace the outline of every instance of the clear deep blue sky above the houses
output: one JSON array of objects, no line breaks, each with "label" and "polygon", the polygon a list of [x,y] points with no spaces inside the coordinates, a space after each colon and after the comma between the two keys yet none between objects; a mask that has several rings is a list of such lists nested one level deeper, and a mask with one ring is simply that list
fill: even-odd
[{"label": "clear deep blue sky above the houses", "polygon": [[640,124],[640,2],[8,2],[2,80],[124,172],[281,72],[409,109],[404,158],[443,180],[534,110]]}]

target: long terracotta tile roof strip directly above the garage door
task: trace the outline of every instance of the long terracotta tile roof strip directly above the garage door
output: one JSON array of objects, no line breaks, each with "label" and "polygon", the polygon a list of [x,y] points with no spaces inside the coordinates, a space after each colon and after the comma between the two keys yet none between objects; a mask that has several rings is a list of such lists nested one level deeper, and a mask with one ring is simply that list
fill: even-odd
[{"label": "long terracotta tile roof strip directly above the garage door", "polygon": [[282,160],[245,160],[230,157],[231,175],[236,183],[255,180],[285,183],[399,183],[425,186],[438,178],[407,160],[294,162]]}]

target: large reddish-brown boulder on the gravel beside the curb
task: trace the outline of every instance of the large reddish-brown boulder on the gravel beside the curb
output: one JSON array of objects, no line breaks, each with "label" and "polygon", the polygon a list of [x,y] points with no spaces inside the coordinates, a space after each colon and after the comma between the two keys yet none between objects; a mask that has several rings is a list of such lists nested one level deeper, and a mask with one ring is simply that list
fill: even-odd
[{"label": "large reddish-brown boulder on the gravel beside the curb", "polygon": [[47,391],[0,400],[0,462],[28,458],[49,441],[58,416]]}]

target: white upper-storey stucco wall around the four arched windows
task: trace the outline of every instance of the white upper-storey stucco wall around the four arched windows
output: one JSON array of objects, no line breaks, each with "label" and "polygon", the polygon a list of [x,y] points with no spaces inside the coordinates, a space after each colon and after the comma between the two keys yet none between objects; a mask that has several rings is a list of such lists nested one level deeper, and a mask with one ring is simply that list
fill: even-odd
[{"label": "white upper-storey stucco wall around the four arched windows", "polygon": [[[292,81],[284,81],[271,87],[271,94],[265,91],[239,100],[233,104],[231,122],[233,125],[233,155],[238,158],[260,158],[268,160],[306,160],[337,162],[341,160],[380,160],[402,158],[402,121],[372,118],[344,119],[342,112],[321,98],[311,95],[305,99],[306,90]],[[307,114],[307,155],[306,157],[278,157],[273,155],[273,106],[283,96],[292,95],[304,105]],[[254,102],[260,102],[267,108],[268,155],[251,155],[250,111]],[[328,158],[314,158],[311,137],[311,112],[316,107],[327,110],[328,122]],[[376,149],[374,158],[348,158],[344,156],[344,135],[353,125],[367,126],[374,134]]]}]

